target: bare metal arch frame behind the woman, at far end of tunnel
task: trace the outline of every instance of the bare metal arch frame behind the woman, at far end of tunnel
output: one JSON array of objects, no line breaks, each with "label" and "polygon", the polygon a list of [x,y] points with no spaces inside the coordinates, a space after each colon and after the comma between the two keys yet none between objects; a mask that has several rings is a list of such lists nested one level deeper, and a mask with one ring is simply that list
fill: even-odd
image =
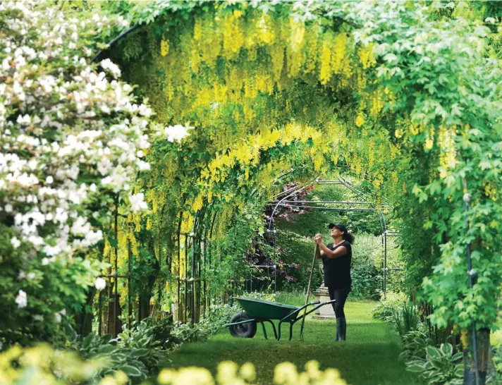
[{"label": "bare metal arch frame behind the woman, at far end of tunnel", "polygon": [[[338,181],[321,181],[319,178],[314,179],[314,181],[307,183],[306,185],[300,185],[297,186],[296,188],[293,189],[293,191],[283,191],[276,195],[276,200],[269,202],[270,204],[274,204],[274,209],[272,209],[272,213],[269,218],[269,225],[267,228],[268,233],[273,233],[274,234],[274,270],[277,269],[277,260],[276,260],[276,255],[277,255],[277,245],[276,245],[276,230],[273,229],[273,224],[274,224],[274,214],[276,214],[276,211],[278,207],[285,207],[288,205],[288,207],[298,207],[298,208],[310,208],[310,209],[324,209],[324,210],[338,210],[338,211],[372,211],[372,212],[377,212],[380,220],[380,226],[381,226],[381,231],[382,231],[382,240],[381,240],[381,245],[384,247],[384,296],[386,296],[386,281],[387,281],[387,271],[403,271],[402,268],[391,268],[389,269],[387,267],[387,238],[388,237],[398,237],[398,231],[388,231],[387,229],[387,224],[384,216],[384,212],[382,212],[381,207],[377,207],[377,204],[374,202],[351,202],[351,201],[307,201],[307,200],[302,200],[302,201],[293,201],[293,200],[288,200],[289,197],[294,196],[295,194],[301,193],[305,188],[308,188],[314,183],[317,183],[319,185],[328,185],[328,184],[333,184],[333,185],[343,185],[345,188],[348,188],[352,193],[354,193],[357,197],[360,197],[362,200],[367,200],[369,196],[366,193],[361,193],[358,191],[351,183],[348,181],[345,181],[344,178],[341,178],[341,176],[338,176]],[[282,197],[280,200],[278,200],[278,197],[281,197],[281,195],[284,195],[287,193],[285,197]],[[296,204],[295,204],[296,203]],[[367,205],[369,208],[354,208],[354,207],[319,207],[319,206],[305,206],[305,203],[307,204],[349,204],[349,205]],[[303,204],[303,205],[302,205]],[[389,209],[391,209],[391,204],[384,202],[381,205],[388,206]],[[388,234],[395,234],[395,235],[388,235]],[[250,265],[250,268],[253,268],[255,266]],[[252,280],[252,279],[250,279]],[[252,286],[251,286],[252,287]],[[277,290],[277,276],[274,274],[274,291]]]}]

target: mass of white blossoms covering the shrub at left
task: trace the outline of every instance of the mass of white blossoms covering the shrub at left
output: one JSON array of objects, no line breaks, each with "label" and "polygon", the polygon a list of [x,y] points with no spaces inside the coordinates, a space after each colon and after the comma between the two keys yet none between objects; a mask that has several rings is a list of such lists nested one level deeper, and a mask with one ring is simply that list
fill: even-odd
[{"label": "mass of white blossoms covering the shrub at left", "polygon": [[[92,37],[127,20],[77,20],[37,1],[0,1],[0,13],[7,26],[0,50],[0,211],[14,219],[11,245],[23,245],[23,257],[47,266],[102,240],[90,221],[100,214],[86,205],[109,191],[129,195],[138,171],[149,169],[153,112],[135,102],[115,63],[104,59],[97,67],[88,59],[96,49],[86,47]],[[166,135],[179,141],[187,130]],[[130,202],[134,211],[147,208],[141,193]],[[20,291],[16,303],[26,302]]]}]

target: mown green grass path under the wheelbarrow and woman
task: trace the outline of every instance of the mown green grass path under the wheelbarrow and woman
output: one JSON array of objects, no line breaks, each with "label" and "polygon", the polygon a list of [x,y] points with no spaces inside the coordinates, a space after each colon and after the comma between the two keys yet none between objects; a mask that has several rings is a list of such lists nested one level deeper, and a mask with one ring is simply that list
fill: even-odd
[{"label": "mown green grass path under the wheelbarrow and woman", "polygon": [[[258,383],[272,384],[274,367],[284,361],[299,369],[309,360],[319,361],[321,368],[335,367],[343,379],[352,385],[419,385],[415,374],[405,371],[398,361],[401,351],[399,337],[384,322],[369,314],[374,302],[347,302],[347,341],[333,342],[334,320],[305,322],[305,342],[299,339],[300,322],[295,325],[292,341],[264,339],[261,327],[255,338],[233,338],[224,331],[205,342],[187,343],[171,355],[173,367],[206,367],[213,373],[223,360],[242,365],[252,362]],[[271,327],[267,334],[273,336]]]}]

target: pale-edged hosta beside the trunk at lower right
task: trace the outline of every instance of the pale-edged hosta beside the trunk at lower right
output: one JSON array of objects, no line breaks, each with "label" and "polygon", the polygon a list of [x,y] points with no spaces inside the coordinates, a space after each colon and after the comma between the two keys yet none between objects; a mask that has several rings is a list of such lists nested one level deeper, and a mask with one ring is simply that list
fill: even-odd
[{"label": "pale-edged hosta beside the trunk at lower right", "polygon": [[462,385],[464,367],[463,353],[453,354],[450,343],[441,343],[439,348],[427,346],[425,358],[406,362],[406,369],[419,373],[427,384]]}]

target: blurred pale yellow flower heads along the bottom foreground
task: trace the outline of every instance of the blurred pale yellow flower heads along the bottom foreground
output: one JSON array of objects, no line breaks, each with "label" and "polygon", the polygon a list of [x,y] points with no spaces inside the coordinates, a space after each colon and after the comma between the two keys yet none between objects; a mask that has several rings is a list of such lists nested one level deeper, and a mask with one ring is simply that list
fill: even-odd
[{"label": "blurred pale yellow flower heads along the bottom foreground", "polygon": [[[48,345],[35,348],[15,346],[0,353],[0,385],[125,385],[128,377],[120,370],[103,379],[97,371],[106,360],[82,361],[76,353],[54,350]],[[159,385],[252,385],[257,380],[255,366],[247,362],[240,366],[224,361],[218,365],[216,377],[202,367],[162,369],[157,377]],[[151,383],[149,383],[151,384]],[[310,361],[305,372],[291,362],[283,362],[274,371],[276,385],[347,385],[336,369],[319,369],[319,362]]]}]

